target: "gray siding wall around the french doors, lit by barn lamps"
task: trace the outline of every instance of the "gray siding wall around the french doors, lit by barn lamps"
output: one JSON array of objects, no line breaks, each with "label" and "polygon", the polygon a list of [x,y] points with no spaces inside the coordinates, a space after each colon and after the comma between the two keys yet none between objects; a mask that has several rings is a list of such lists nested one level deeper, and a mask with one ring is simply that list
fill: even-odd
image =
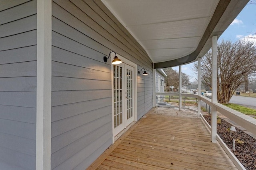
[{"label": "gray siding wall around the french doors, lit by barn lamps", "polygon": [[103,61],[111,50],[150,73],[138,76],[138,93],[152,95],[152,61],[102,8],[94,1],[52,2],[52,169],[84,170],[112,144],[111,60]]}]

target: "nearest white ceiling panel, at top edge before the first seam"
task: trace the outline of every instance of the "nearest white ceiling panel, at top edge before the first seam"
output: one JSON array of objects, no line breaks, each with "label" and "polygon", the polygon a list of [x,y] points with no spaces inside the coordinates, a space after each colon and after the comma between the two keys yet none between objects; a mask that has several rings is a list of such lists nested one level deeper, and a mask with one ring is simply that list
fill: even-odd
[{"label": "nearest white ceiling panel, at top edge before the first seam", "polygon": [[112,8],[126,26],[210,17],[218,4],[218,0],[102,1]]}]

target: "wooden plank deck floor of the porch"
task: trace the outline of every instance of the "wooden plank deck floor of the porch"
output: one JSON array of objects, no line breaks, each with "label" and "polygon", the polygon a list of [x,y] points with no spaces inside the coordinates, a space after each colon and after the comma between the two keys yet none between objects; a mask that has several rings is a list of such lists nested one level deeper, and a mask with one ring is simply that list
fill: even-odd
[{"label": "wooden plank deck floor of the porch", "polygon": [[88,169],[237,169],[194,113],[158,107],[140,119]]}]

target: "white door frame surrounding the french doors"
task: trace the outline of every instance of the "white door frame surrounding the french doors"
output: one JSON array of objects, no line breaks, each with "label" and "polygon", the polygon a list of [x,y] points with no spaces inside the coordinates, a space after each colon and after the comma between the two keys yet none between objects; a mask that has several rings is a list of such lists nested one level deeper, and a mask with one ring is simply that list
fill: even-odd
[{"label": "white door frame surrounding the french doors", "polygon": [[[137,64],[133,63],[132,61],[120,56],[118,53],[116,53],[116,56],[125,64],[128,64],[132,67],[134,67],[134,121],[138,121],[138,114],[137,114]],[[111,61],[114,59],[115,55],[114,53],[111,53]],[[113,64],[111,64],[111,103],[112,103],[112,143],[115,142],[115,136],[114,136],[114,78],[113,78]]]}]

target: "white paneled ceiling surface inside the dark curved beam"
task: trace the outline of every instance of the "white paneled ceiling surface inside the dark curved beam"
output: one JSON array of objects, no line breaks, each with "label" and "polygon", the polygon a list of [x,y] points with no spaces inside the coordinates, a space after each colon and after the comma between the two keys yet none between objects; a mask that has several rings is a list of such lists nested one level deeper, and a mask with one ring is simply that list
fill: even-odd
[{"label": "white paneled ceiling surface inside the dark curved beam", "polygon": [[102,0],[153,63],[189,55],[198,47],[218,0]]}]

